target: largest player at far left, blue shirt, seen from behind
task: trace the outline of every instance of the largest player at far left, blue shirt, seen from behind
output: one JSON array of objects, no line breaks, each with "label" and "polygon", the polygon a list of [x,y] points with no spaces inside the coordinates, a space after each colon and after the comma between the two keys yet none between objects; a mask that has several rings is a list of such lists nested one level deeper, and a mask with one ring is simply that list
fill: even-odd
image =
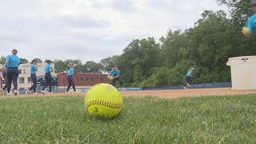
[{"label": "largest player at far left, blue shirt, seen from behind", "polygon": [[5,62],[5,67],[7,68],[7,81],[8,81],[8,86],[7,86],[7,95],[10,95],[10,88],[11,88],[11,83],[14,83],[14,95],[18,94],[17,88],[18,88],[18,66],[20,64],[20,58],[17,56],[18,50],[14,49],[12,50],[12,54],[8,55],[6,57],[6,62]]}]

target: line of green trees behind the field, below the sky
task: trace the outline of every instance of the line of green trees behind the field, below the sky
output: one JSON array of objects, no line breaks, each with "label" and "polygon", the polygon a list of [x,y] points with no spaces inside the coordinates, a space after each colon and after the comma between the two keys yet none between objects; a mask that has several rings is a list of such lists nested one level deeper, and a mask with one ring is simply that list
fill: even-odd
[{"label": "line of green trees behind the field, below the sky", "polygon": [[158,42],[151,37],[134,39],[121,55],[100,62],[54,60],[55,72],[68,70],[70,63],[82,73],[102,73],[118,65],[126,86],[155,87],[183,84],[193,66],[195,83],[229,82],[228,58],[256,54],[255,36],[245,38],[241,33],[253,13],[250,0],[216,2],[227,6],[229,14],[205,10],[190,29],[168,30]]}]

